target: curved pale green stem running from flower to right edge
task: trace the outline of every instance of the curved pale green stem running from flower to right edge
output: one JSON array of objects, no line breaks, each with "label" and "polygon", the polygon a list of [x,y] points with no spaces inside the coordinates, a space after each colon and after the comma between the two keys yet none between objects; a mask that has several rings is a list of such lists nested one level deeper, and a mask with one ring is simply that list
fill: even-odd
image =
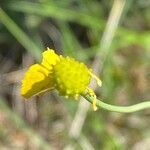
[{"label": "curved pale green stem running from flower to right edge", "polygon": [[[90,97],[89,95],[82,95],[82,96],[90,103],[93,103],[93,97]],[[146,108],[150,108],[150,101],[141,102],[139,104],[135,104],[131,106],[115,106],[115,105],[104,103],[97,99],[96,106],[104,110],[114,111],[118,113],[132,113]]]}]

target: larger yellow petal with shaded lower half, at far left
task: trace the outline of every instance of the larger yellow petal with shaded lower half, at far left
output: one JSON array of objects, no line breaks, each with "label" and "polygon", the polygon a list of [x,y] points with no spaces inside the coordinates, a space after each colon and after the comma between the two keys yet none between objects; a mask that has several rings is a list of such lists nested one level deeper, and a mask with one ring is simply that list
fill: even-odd
[{"label": "larger yellow petal with shaded lower half, at far left", "polygon": [[46,89],[53,89],[54,81],[50,72],[39,64],[32,65],[22,80],[21,95],[25,98]]}]

